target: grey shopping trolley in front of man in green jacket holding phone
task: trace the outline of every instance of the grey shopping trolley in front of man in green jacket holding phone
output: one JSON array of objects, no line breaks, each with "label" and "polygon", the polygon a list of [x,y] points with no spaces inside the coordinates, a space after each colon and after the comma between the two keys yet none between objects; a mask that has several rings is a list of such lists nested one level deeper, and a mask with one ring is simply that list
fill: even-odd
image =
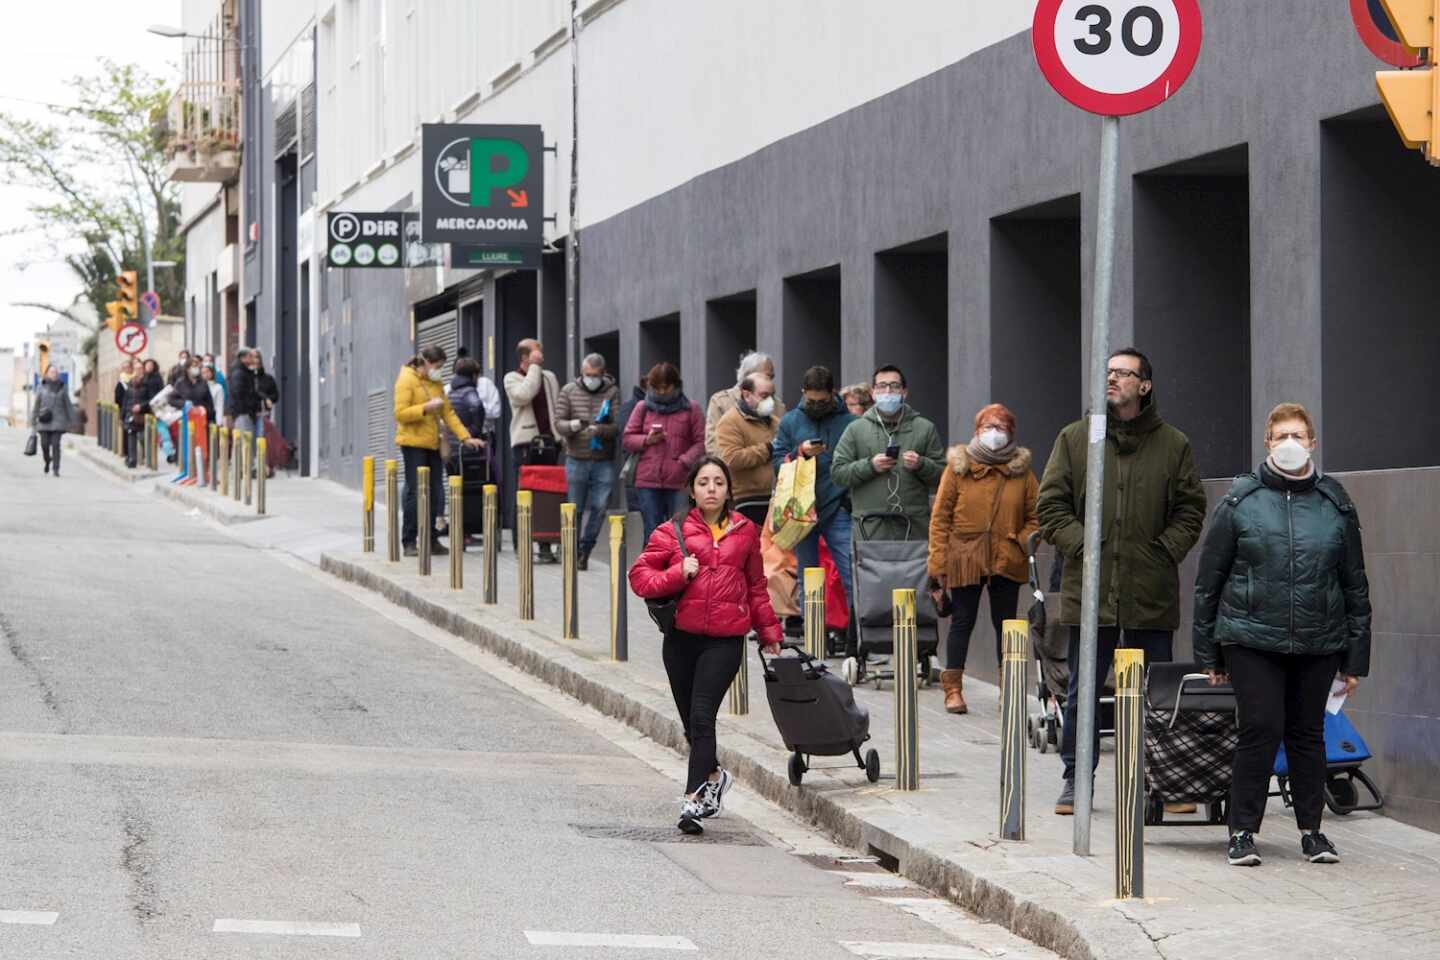
[{"label": "grey shopping trolley in front of man in green jacket holding phone", "polygon": [[[867,520],[855,518],[860,531]],[[858,531],[857,531],[858,533]],[[932,665],[940,649],[940,616],[930,596],[930,577],[926,571],[930,547],[926,540],[861,540],[851,543],[851,577],[855,586],[854,626],[858,639],[855,656],[847,656],[841,672],[851,685],[871,679],[876,689],[881,681],[893,679],[893,669],[883,669],[886,659],[871,661],[874,653],[893,653],[891,632],[893,592],[914,590],[914,626],[919,649],[917,674],[922,687],[929,687]]]}]

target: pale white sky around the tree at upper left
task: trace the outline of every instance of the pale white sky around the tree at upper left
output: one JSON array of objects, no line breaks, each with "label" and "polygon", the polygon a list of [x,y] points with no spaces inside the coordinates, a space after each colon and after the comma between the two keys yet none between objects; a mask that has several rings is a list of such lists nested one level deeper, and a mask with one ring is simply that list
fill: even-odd
[{"label": "pale white sky around the tree at upper left", "polygon": [[[151,23],[179,26],[180,0],[7,3],[6,29],[0,30],[0,111],[39,118],[42,107],[19,101],[72,102],[65,81],[95,72],[101,56],[141,63],[173,82],[181,40],[147,33]],[[24,190],[0,180],[0,229],[29,223],[29,200]],[[30,265],[22,269],[26,262]],[[0,237],[0,347],[30,340],[52,318],[12,304],[63,307],[78,292],[79,284],[63,262],[52,259],[43,237]]]}]

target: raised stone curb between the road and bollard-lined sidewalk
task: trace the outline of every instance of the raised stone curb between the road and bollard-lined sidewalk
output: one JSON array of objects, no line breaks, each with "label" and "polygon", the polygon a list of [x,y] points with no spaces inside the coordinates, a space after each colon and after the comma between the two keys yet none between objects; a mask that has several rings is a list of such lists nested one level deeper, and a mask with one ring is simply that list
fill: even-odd
[{"label": "raised stone curb between the road and bollard-lined sidewalk", "polygon": [[[668,699],[651,689],[619,676],[603,681],[588,675],[595,661],[556,645],[539,632],[514,639],[469,619],[442,603],[426,599],[405,586],[367,570],[356,563],[323,554],[320,569],[341,580],[379,593],[396,606],[405,607],[422,620],[488,651],[513,666],[536,676],[550,687],[575,697],[608,717],[624,721],[649,740],[677,751],[684,751],[684,728],[671,714]],[[734,738],[730,738],[734,740]],[[756,743],[752,738],[746,738]],[[760,744],[757,744],[760,746]],[[1012,874],[1007,879],[1031,879],[1011,884],[985,875],[982,864],[966,864],[971,856],[984,856],[981,845],[971,843],[973,853],[943,855],[927,849],[916,839],[907,839],[897,820],[894,829],[865,818],[863,812],[847,809],[842,797],[812,789],[796,790],[783,773],[783,754],[773,754],[775,769],[757,751],[720,747],[720,761],[736,771],[752,790],[778,806],[829,832],[838,842],[883,855],[897,872],[976,914],[982,920],[1001,924],[1011,933],[1070,960],[1109,960],[1158,956],[1155,943],[1139,927],[1107,904],[1081,898],[1058,881],[1035,884],[1034,875]],[[919,826],[919,825],[916,825]],[[923,830],[923,826],[920,828]],[[1040,888],[1043,887],[1043,888]],[[1071,917],[1081,917],[1073,920]]]}]

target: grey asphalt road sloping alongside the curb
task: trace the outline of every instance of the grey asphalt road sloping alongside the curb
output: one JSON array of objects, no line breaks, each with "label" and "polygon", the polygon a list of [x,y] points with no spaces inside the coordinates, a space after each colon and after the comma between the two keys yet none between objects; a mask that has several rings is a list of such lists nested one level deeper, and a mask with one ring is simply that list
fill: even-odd
[{"label": "grey asphalt road sloping alongside the curb", "polygon": [[20,440],[0,957],[1051,956],[743,789],[683,841],[672,753]]}]

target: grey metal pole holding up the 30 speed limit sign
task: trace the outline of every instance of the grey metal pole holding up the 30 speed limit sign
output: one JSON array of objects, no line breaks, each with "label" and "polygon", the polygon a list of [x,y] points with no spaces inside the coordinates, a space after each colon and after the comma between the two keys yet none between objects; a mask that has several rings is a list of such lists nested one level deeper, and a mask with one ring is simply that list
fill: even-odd
[{"label": "grey metal pole holding up the 30 speed limit sign", "polygon": [[1094,807],[1094,691],[1099,678],[1100,517],[1104,512],[1106,367],[1110,354],[1110,288],[1115,276],[1115,201],[1120,177],[1120,118],[1100,121],[1100,209],[1094,243],[1094,311],[1090,324],[1090,422],[1086,446],[1084,576],[1080,586],[1080,704],[1076,720],[1074,852],[1090,855]]}]

